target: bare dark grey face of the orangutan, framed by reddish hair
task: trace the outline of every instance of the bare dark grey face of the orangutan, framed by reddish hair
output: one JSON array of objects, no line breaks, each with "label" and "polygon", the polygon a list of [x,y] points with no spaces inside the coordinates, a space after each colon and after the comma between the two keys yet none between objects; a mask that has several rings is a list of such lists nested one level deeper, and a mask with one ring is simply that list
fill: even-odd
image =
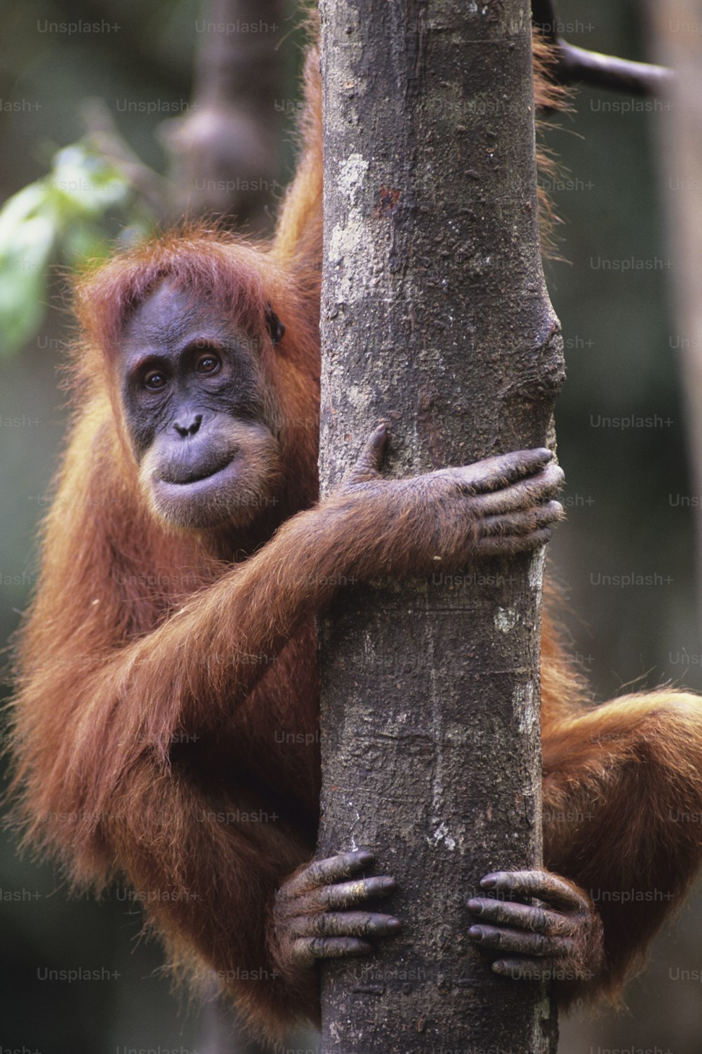
[{"label": "bare dark grey face of the orangutan, framed by reddish hair", "polygon": [[214,307],[168,282],[129,324],[124,414],[141,486],[169,524],[241,526],[269,496],[279,452],[266,425],[258,354]]}]

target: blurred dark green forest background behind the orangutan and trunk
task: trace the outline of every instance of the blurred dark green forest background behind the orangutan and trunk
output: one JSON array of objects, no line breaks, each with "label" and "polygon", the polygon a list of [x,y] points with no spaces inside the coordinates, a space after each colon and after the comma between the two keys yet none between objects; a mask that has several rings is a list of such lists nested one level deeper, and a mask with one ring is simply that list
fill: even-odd
[{"label": "blurred dark green forest background behind the orangutan and trunk", "polygon": [[[2,0],[0,11],[7,638],[36,579],[36,527],[66,422],[56,370],[71,318],[56,266],[80,266],[186,212],[270,229],[292,171],[300,34],[293,0]],[[561,0],[559,18],[572,43],[648,57],[636,0]],[[547,278],[568,366],[557,426],[569,514],[549,558],[598,700],[661,681],[702,690],[683,338],[666,307],[676,272],[655,163],[668,106],[582,89],[576,112],[547,136],[562,162],[546,187],[564,220],[567,262],[549,264]],[[631,584],[632,575],[650,584]],[[139,938],[138,903],[117,890],[101,903],[67,899],[52,867],[18,857],[11,833],[0,844],[0,930],[3,1049],[234,1049],[211,1009],[171,994],[159,949]],[[684,971],[700,976],[701,945],[698,894],[630,985],[629,1013],[564,1019],[563,1054],[699,1054],[702,990]],[[43,980],[54,969],[94,970],[100,980]],[[308,1050],[310,1039],[296,1046]]]}]

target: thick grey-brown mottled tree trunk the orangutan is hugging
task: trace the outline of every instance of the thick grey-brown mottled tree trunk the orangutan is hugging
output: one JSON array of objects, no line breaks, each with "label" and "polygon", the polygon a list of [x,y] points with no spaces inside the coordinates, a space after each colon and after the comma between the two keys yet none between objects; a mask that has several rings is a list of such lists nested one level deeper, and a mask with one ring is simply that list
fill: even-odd
[{"label": "thick grey-brown mottled tree trunk the orangutan is hugging", "polygon": [[[541,268],[526,0],[324,0],[321,484],[391,421],[401,475],[544,445],[562,379]],[[466,899],[541,859],[543,553],[348,589],[320,627],[319,853],[368,847],[404,922],[323,979],[323,1054],[552,1051]]]}]

